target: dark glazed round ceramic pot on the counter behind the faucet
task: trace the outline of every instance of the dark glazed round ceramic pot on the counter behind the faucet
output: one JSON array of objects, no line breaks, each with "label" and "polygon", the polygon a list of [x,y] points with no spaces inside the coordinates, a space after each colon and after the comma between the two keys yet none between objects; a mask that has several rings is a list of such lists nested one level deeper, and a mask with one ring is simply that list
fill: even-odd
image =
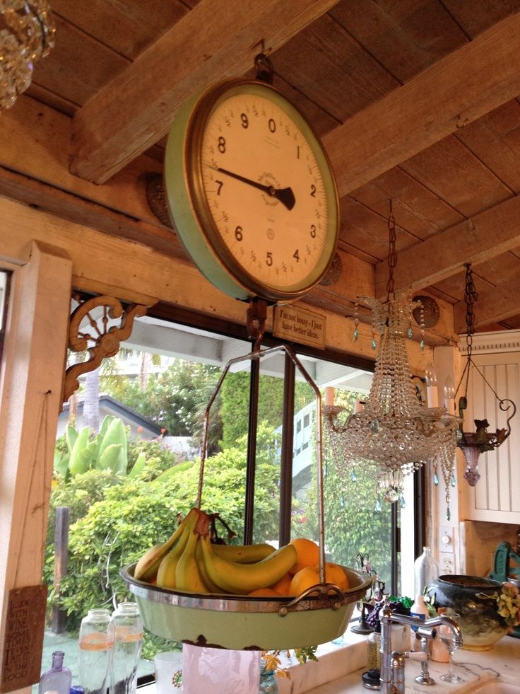
[{"label": "dark glazed round ceramic pot on the counter behind the faucet", "polygon": [[427,586],[426,592],[436,608],[459,613],[463,649],[488,651],[504,636],[509,627],[497,612],[496,594],[502,584],[478,576],[440,576]]}]

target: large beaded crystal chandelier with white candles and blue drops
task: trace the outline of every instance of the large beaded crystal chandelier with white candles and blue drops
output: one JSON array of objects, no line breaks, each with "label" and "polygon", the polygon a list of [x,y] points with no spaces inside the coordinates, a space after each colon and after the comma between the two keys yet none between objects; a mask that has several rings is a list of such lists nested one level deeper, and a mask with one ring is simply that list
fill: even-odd
[{"label": "large beaded crystal chandelier with white candles and blue drops", "polygon": [[379,497],[388,502],[401,499],[402,503],[404,475],[427,461],[439,463],[449,507],[459,420],[444,407],[425,407],[410,378],[406,337],[412,335],[412,311],[420,301],[411,301],[409,293],[394,291],[396,226],[391,208],[388,221],[386,300],[358,297],[358,302],[372,309],[374,335],[379,335],[372,387],[367,402],[353,414],[346,415],[343,407],[324,407],[333,460],[342,480],[355,475],[357,465],[372,465]]}]

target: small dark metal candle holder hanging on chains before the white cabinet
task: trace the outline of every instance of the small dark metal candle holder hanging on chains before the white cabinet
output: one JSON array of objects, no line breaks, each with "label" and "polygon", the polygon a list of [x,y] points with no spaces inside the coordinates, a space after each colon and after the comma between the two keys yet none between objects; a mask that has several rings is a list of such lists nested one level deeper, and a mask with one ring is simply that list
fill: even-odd
[{"label": "small dark metal candle holder hanging on chains before the white cabinet", "polygon": [[[464,366],[462,371],[461,380],[459,381],[459,386],[457,387],[456,393],[459,391],[464,377],[466,377],[464,395],[461,395],[461,398],[459,399],[459,416],[461,423],[457,432],[457,446],[459,446],[463,452],[464,458],[466,459],[464,478],[468,482],[468,485],[471,485],[471,487],[475,487],[478,480],[480,480],[480,473],[478,471],[478,458],[480,457],[480,453],[492,451],[504,443],[504,441],[509,437],[509,434],[511,434],[511,426],[509,425],[509,422],[516,413],[516,405],[514,402],[509,400],[509,398],[500,398],[490,383],[486,380],[482,371],[480,371],[475,362],[473,362],[472,345],[473,334],[475,332],[475,313],[473,312],[473,303],[475,303],[477,299],[478,294],[475,290],[475,284],[473,284],[471,265],[467,263],[466,287],[464,289],[464,301],[466,302],[466,366]],[[503,429],[497,429],[495,432],[488,432],[488,427],[490,424],[488,420],[484,419],[473,420],[475,422],[475,432],[463,431],[463,412],[468,407],[468,383],[471,366],[473,366],[473,369],[475,369],[475,371],[480,375],[484,383],[495,395],[495,398],[497,398],[500,410],[502,410],[502,412],[509,412],[506,427]]]}]

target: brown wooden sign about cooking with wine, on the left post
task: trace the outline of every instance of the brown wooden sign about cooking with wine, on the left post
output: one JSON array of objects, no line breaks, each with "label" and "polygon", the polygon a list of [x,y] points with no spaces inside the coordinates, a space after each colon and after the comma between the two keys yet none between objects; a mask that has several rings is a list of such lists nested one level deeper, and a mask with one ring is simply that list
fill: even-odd
[{"label": "brown wooden sign about cooking with wine, on the left post", "polygon": [[47,586],[14,588],[7,599],[2,694],[40,681]]}]

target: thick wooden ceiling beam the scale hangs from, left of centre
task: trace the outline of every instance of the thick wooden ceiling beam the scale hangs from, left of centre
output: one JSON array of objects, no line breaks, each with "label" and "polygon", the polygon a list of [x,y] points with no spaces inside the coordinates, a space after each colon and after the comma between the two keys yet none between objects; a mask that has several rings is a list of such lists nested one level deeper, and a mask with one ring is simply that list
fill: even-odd
[{"label": "thick wooden ceiling beam the scale hangs from, left of centre", "polygon": [[189,96],[244,74],[336,1],[202,0],[76,113],[71,171],[103,183],[167,133]]}]

